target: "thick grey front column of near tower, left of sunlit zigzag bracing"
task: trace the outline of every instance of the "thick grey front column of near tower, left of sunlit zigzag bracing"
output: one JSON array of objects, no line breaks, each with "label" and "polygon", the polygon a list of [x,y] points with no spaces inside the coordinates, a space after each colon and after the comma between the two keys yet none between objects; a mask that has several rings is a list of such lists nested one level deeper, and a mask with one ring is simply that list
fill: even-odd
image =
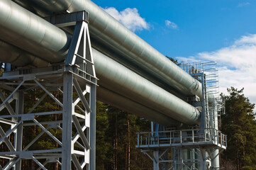
[{"label": "thick grey front column of near tower, left of sunlit zigzag bracing", "polygon": [[72,113],[74,106],[73,74],[65,72],[63,76],[63,113],[62,113],[62,170],[71,169],[72,146]]}]

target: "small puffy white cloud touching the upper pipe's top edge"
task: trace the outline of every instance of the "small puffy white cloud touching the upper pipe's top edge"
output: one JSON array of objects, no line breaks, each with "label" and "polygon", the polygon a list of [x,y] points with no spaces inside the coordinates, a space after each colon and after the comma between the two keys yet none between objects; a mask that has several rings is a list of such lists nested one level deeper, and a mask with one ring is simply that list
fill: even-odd
[{"label": "small puffy white cloud touching the upper pipe's top edge", "polygon": [[142,18],[140,13],[138,13],[137,8],[126,8],[120,12],[113,7],[104,8],[104,10],[133,32],[143,29],[148,30],[150,28],[145,18]]}]

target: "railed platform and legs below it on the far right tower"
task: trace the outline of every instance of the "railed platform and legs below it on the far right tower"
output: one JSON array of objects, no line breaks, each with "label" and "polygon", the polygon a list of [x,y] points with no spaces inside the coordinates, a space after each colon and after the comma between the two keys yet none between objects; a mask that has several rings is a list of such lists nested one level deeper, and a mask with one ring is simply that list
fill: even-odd
[{"label": "railed platform and legs below it on the far right tower", "polygon": [[[213,136],[206,135],[208,131],[214,131]],[[204,169],[207,162],[216,159],[226,149],[227,137],[215,129],[139,132],[136,147],[150,157],[154,169]],[[212,149],[220,152],[213,154]],[[189,153],[190,158],[186,158],[184,152]]]}]

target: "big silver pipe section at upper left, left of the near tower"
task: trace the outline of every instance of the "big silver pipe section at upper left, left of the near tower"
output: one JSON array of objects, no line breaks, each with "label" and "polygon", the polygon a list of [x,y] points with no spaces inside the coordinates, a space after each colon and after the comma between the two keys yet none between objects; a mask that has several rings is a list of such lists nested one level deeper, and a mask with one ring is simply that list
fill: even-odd
[{"label": "big silver pipe section at upper left, left of the near tower", "polygon": [[13,1],[0,1],[0,39],[50,62],[65,59],[70,35]]}]

